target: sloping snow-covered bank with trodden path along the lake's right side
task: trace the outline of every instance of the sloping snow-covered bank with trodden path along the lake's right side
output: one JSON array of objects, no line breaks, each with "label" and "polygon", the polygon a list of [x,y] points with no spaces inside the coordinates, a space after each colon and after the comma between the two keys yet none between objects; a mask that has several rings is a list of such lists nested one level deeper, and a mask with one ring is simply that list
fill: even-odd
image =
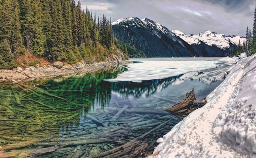
[{"label": "sloping snow-covered bank with trodden path along the lake's right side", "polygon": [[256,158],[256,55],[234,62],[208,103],[157,140],[151,158]]}]

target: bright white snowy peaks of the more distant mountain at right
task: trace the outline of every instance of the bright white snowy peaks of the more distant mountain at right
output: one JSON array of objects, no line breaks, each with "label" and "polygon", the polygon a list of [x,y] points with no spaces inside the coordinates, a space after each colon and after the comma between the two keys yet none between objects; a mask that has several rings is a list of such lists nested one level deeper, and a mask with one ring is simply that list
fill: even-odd
[{"label": "bright white snowy peaks of the more distant mountain at right", "polygon": [[172,32],[182,38],[184,41],[186,41],[188,44],[201,44],[201,42],[212,46],[216,45],[217,47],[221,49],[227,49],[230,47],[230,44],[232,45],[238,45],[239,40],[240,44],[243,44],[244,41],[246,41],[246,38],[240,35],[223,35],[218,34],[216,32],[211,32],[210,30],[203,31],[199,33],[198,35],[186,35],[183,32],[179,30],[172,30]]}]

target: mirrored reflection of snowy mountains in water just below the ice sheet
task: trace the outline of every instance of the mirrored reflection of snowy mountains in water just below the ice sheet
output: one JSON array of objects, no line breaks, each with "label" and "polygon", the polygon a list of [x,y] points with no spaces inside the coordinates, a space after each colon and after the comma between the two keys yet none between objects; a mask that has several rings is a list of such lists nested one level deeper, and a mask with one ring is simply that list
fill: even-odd
[{"label": "mirrored reflection of snowy mountains in water just below the ice sheet", "polygon": [[[158,93],[170,85],[180,85],[186,81],[198,80],[201,83],[210,85],[213,82],[222,81],[224,74],[212,75],[212,72],[192,71],[166,79],[143,80],[142,82],[120,81],[111,82],[111,90],[120,97],[149,97]],[[194,87],[196,88],[196,87]]]}]

